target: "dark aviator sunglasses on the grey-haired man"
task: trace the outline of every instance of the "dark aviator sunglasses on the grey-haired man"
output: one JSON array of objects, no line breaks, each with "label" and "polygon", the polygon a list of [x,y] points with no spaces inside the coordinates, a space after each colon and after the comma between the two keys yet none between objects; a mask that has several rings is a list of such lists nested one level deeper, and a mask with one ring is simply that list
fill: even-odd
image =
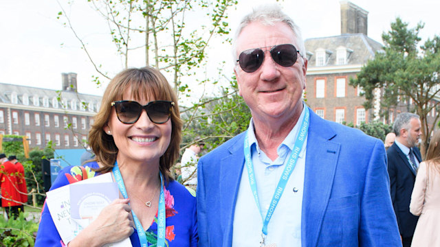
[{"label": "dark aviator sunglasses on the grey-haired man", "polygon": [[[265,51],[261,48],[248,49],[241,52],[239,59],[236,60],[236,62],[239,62],[243,71],[252,73],[259,69],[261,64],[263,64]],[[300,54],[296,47],[290,44],[275,45],[270,49],[270,56],[272,56],[272,59],[283,67],[291,67],[294,65],[296,58],[298,58],[296,55],[297,53]],[[303,57],[301,54],[300,56]]]}]

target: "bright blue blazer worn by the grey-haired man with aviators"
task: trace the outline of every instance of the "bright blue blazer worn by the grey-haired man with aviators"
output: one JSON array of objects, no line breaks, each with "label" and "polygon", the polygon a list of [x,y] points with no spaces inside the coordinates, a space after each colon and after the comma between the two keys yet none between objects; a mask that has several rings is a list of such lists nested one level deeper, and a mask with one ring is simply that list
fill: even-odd
[{"label": "bright blue blazer worn by the grey-haired man with aviators", "polygon": [[[232,245],[244,137],[199,160],[199,246]],[[401,246],[382,141],[310,110],[302,212],[303,246]]]}]

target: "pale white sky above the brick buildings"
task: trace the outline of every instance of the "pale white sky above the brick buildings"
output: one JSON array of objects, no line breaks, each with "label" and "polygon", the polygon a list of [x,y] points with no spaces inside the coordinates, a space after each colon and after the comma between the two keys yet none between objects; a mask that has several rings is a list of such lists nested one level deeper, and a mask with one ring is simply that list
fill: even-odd
[{"label": "pale white sky above the brick buildings", "polygon": [[[73,3],[72,7],[68,2]],[[243,15],[252,10],[252,6],[272,2],[276,1],[239,0],[238,5],[228,10],[231,34]],[[440,1],[351,2],[369,12],[368,35],[380,43],[382,33],[390,30],[391,22],[398,16],[410,27],[415,27],[419,22],[425,23],[420,33],[423,40],[440,35]],[[278,4],[299,25],[304,39],[340,35],[339,0],[285,0],[278,1]],[[100,87],[92,81],[92,75],[98,73],[72,30],[56,18],[61,7],[71,16],[72,25],[78,36],[87,43],[92,56],[103,61],[105,69],[113,73],[111,76],[124,68],[115,54],[115,46],[109,41],[106,23],[86,0],[0,1],[0,82],[60,90],[61,73],[74,72],[78,74],[79,93],[102,95],[108,80],[103,80],[103,86]],[[227,61],[225,71],[230,71],[228,76],[232,75],[230,45],[221,45],[219,40],[214,40],[212,44],[208,49],[208,66],[215,67],[221,60]],[[142,62],[133,61],[129,66],[140,67]]]}]

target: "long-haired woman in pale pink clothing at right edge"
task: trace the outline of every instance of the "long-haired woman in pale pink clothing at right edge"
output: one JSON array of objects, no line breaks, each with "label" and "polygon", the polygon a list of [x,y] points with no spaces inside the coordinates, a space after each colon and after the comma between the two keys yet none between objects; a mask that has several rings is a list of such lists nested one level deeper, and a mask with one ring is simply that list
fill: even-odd
[{"label": "long-haired woman in pale pink clothing at right edge", "polygon": [[432,137],[426,161],[420,163],[410,212],[420,215],[411,246],[440,246],[440,130]]}]

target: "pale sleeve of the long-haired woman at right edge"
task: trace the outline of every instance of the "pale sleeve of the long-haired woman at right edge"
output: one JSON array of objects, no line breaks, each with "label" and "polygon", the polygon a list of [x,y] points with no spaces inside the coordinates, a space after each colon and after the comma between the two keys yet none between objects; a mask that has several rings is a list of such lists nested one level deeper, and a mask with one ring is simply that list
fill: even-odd
[{"label": "pale sleeve of the long-haired woman at right edge", "polygon": [[420,163],[417,176],[415,178],[414,189],[412,189],[410,212],[413,215],[419,216],[423,209],[423,202],[425,202],[426,192],[426,163]]}]

